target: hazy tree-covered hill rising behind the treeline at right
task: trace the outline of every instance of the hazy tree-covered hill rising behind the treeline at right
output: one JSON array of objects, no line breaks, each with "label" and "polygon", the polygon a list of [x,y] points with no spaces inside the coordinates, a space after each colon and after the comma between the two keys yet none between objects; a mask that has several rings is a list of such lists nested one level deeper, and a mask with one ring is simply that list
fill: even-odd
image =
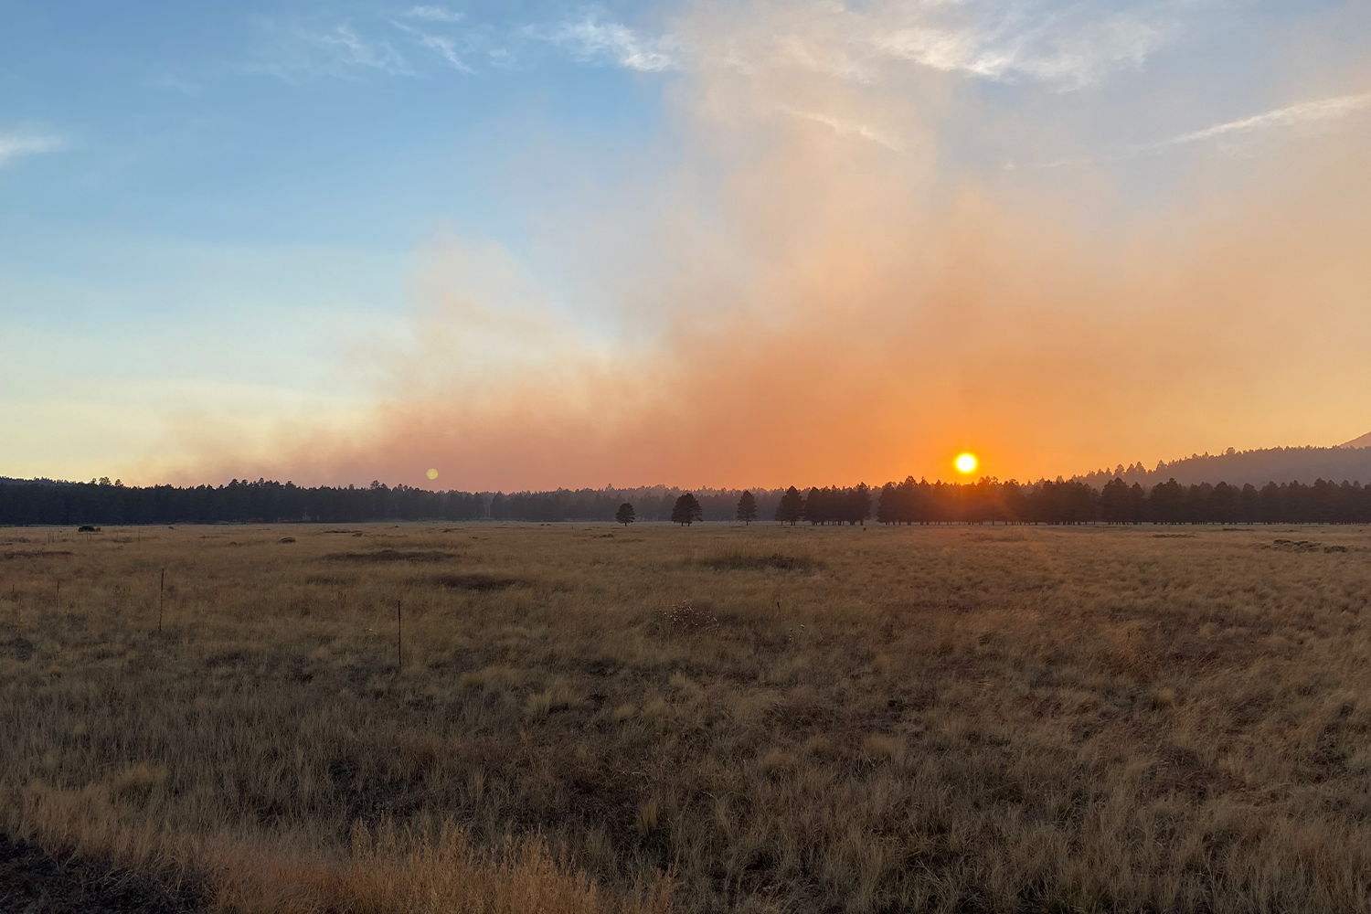
[{"label": "hazy tree-covered hill rising behind the treeline at right", "polygon": [[1231,485],[1261,486],[1267,482],[1333,482],[1371,484],[1371,434],[1348,441],[1333,448],[1263,448],[1256,451],[1234,451],[1226,454],[1193,454],[1167,463],[1161,460],[1153,469],[1142,463],[1104,469],[1076,477],[1094,486],[1102,486],[1115,477],[1124,482],[1156,485],[1174,478],[1182,485],[1196,482],[1228,482]]}]

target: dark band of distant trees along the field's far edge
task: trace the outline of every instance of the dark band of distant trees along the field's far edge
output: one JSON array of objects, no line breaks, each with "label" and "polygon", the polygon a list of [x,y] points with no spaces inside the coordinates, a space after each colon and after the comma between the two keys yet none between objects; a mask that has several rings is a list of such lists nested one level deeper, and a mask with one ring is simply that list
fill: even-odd
[{"label": "dark band of distant trees along the field's far edge", "polygon": [[[362,523],[367,521],[613,521],[622,504],[638,521],[668,521],[681,489],[430,492],[373,482],[304,488],[237,481],[193,488],[49,480],[0,481],[0,525]],[[695,489],[705,521],[740,518],[738,489]],[[1371,485],[1267,482],[1130,484],[1116,477],[973,484],[906,478],[866,485],[754,489],[755,517],[787,523],[1371,523]]]}]

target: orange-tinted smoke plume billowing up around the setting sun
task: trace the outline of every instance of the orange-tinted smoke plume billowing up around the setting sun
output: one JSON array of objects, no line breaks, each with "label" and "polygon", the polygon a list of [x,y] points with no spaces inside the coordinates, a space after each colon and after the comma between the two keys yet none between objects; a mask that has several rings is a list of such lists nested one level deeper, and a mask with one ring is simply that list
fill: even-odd
[{"label": "orange-tinted smoke plume billowing up around the setting sun", "polygon": [[990,4],[692,4],[661,42],[672,155],[543,223],[574,307],[489,241],[435,238],[413,344],[355,356],[373,407],[195,474],[879,484],[973,449],[1024,480],[1361,433],[1364,106],[1043,169],[1072,123],[986,89],[1069,107],[1167,27],[1005,44]]}]

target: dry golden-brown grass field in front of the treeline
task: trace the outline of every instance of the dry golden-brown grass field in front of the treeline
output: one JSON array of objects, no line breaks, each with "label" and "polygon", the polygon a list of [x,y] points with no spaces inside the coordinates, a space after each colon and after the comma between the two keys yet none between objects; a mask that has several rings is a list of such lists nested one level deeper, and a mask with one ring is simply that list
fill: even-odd
[{"label": "dry golden-brown grass field in front of the treeline", "polygon": [[210,910],[1371,910],[1368,600],[1364,528],[0,530],[0,835]]}]

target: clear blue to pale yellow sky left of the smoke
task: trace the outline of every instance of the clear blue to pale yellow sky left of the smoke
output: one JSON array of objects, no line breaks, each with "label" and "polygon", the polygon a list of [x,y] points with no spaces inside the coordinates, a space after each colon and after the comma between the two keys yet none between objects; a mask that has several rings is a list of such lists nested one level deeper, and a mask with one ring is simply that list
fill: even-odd
[{"label": "clear blue to pale yellow sky left of the smoke", "polygon": [[654,63],[595,44],[610,15],[7,4],[0,473],[128,460],[170,402],[355,396],[337,362],[404,311],[417,245],[521,251],[548,182],[659,129]]}]

